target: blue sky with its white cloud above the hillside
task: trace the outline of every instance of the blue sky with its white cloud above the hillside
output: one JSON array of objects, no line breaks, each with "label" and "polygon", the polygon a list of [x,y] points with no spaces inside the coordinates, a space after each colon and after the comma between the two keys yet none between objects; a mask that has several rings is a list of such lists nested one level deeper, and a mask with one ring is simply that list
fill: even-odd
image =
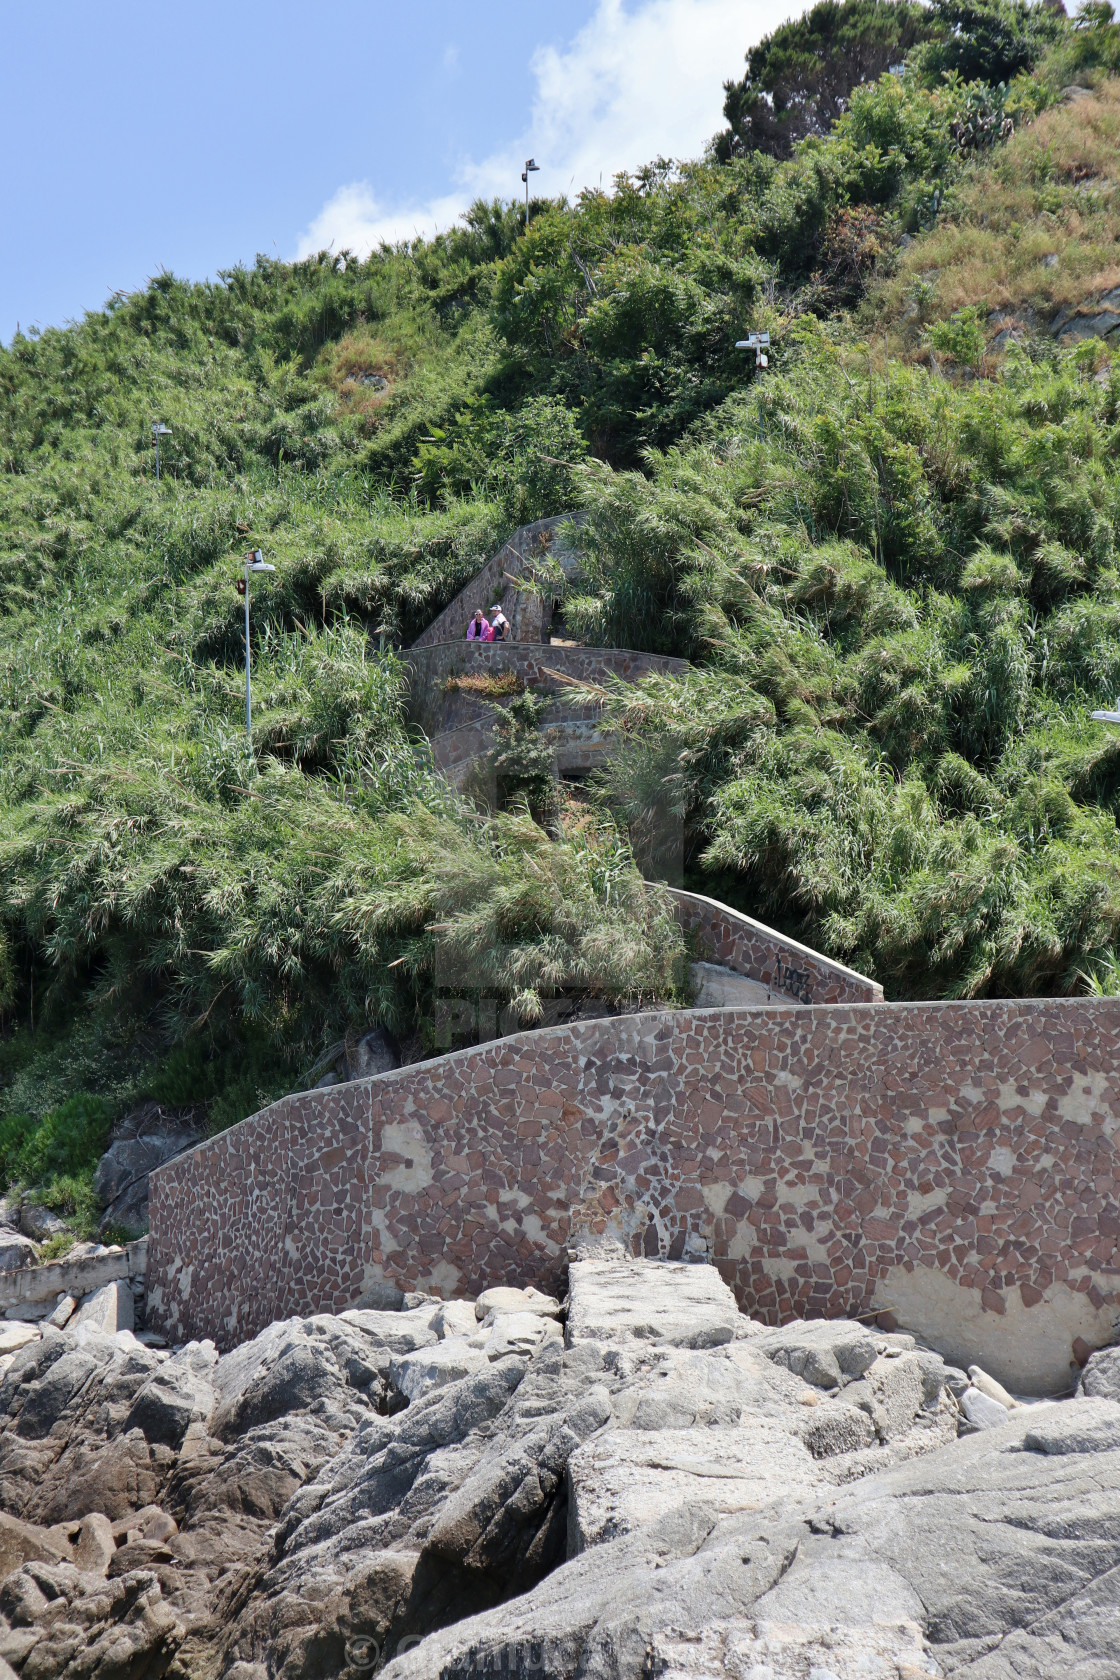
[{"label": "blue sky with its white cloud above the hillside", "polygon": [[[448,225],[719,126],[782,0],[0,0],[0,339],[161,267]],[[796,8],[793,8],[796,10]]]}]

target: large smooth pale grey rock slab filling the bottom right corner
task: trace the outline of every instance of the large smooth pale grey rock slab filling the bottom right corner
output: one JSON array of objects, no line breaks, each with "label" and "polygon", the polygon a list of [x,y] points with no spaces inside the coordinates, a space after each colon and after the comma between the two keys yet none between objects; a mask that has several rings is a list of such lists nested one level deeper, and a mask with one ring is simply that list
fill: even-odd
[{"label": "large smooth pale grey rock slab filling the bottom right corner", "polygon": [[[1088,1426],[1090,1408],[1102,1404],[1100,1423],[1112,1418],[1107,1403],[1048,1410],[1083,1406]],[[816,1630],[828,1630],[836,1662],[830,1668],[821,1655],[818,1673],[843,1675],[841,1658],[848,1673],[877,1673],[875,1656],[892,1680],[913,1672],[1112,1680],[1120,1443],[1091,1453],[1029,1450],[1026,1418],[1016,1411],[1004,1431],[828,1495],[794,1494],[724,1519],[693,1502],[581,1552],[516,1603],[432,1633],[395,1656],[386,1680],[494,1672],[638,1680],[673,1673],[672,1665],[652,1668],[650,1653],[678,1651],[682,1635],[693,1655],[712,1641],[712,1660],[693,1672],[722,1673],[715,1641],[729,1648],[724,1630],[735,1630],[737,1648],[764,1658],[776,1677],[808,1675],[801,1656],[808,1662]],[[761,1640],[769,1648],[759,1651]],[[856,1653],[866,1656],[863,1668],[853,1668]],[[737,1680],[752,1672],[725,1667]]]}]

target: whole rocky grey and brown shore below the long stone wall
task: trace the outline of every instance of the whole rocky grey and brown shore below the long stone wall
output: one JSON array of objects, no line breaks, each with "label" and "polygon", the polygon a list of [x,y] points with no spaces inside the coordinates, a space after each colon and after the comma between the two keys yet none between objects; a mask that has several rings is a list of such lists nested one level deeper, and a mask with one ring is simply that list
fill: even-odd
[{"label": "whole rocky grey and brown shore below the long stone wall", "polygon": [[1118,1672],[1120,1349],[1018,1404],[608,1248],[225,1356],[0,1337],[0,1680]]}]

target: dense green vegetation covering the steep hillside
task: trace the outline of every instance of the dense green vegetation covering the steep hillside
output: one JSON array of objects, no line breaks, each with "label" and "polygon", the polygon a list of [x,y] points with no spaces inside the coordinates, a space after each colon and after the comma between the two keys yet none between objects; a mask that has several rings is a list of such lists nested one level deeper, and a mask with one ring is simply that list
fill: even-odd
[{"label": "dense green vegetation covering the steep hillside", "polygon": [[[480,203],[368,260],[161,276],[0,349],[7,1178],[87,1208],[139,1097],[222,1126],[368,1025],[425,1053],[457,968],[504,1020],[680,998],[628,850],[667,801],[697,885],[888,995],[1115,983],[1120,743],[1088,711],[1120,690],[1120,373],[1044,311],[1115,284],[1120,32],[1103,5],[912,12],[818,7],[752,57],[771,113],[816,37],[870,66],[803,139],[717,138],[527,234]],[[1039,272],[1066,291],[997,344],[992,292]],[[591,803],[549,793],[539,707],[505,696],[509,808],[479,810],[396,650],[573,507],[568,623],[695,670],[610,699]],[[277,568],[252,751],[249,544]]]}]

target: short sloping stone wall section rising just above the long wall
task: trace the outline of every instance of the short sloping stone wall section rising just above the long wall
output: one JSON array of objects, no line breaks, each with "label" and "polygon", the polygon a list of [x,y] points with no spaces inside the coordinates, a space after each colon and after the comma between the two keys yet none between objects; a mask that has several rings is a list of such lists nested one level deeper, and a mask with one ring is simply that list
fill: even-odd
[{"label": "short sloping stone wall section rising just above the long wall", "polygon": [[798,1003],[882,1003],[883,988],[699,892],[670,889],[680,926],[700,934],[709,963],[734,968]]}]

